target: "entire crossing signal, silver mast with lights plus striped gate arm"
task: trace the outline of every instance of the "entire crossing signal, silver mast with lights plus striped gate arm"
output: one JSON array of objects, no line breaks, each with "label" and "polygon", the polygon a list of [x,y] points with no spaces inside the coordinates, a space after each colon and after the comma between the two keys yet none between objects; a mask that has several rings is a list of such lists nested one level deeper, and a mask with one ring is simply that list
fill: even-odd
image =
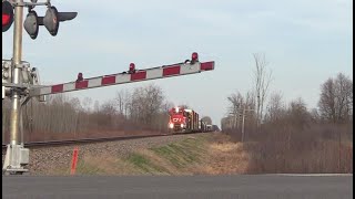
[{"label": "entire crossing signal, silver mast with lights plus striped gate arm", "polygon": [[[34,7],[37,6],[48,7],[44,17],[37,14],[34,11]],[[23,7],[29,8],[23,28],[33,40],[39,34],[39,27],[44,25],[49,33],[55,36],[60,22],[72,20],[78,14],[77,12],[59,12],[55,7],[51,6],[50,0],[44,2],[38,2],[38,0],[31,0],[31,2],[2,0],[2,32],[8,31],[12,22],[14,22],[13,56],[11,60],[2,59],[2,100],[7,97],[11,100],[10,144],[7,147],[2,168],[4,174],[18,175],[28,171],[26,167],[29,164],[29,149],[23,147],[23,140],[19,143],[19,134],[22,134],[21,107],[32,97],[36,97],[40,102],[45,102],[45,96],[51,94],[189,75],[214,70],[213,61],[200,62],[199,54],[194,52],[191,60],[175,64],[138,70],[134,63],[130,63],[128,71],[116,74],[84,78],[83,73],[79,73],[77,80],[72,82],[41,85],[39,70],[31,67],[30,63],[21,60]]]}]

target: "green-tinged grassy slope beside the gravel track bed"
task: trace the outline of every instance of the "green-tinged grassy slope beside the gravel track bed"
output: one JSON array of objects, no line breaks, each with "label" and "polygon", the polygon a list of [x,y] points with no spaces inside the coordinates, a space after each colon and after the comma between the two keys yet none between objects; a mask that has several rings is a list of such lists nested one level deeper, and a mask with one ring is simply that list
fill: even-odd
[{"label": "green-tinged grassy slope beside the gravel track bed", "polygon": [[[133,151],[125,156],[85,155],[79,158],[78,175],[191,175],[207,154],[209,136],[189,136],[176,143]],[[68,175],[58,168],[54,175]]]}]

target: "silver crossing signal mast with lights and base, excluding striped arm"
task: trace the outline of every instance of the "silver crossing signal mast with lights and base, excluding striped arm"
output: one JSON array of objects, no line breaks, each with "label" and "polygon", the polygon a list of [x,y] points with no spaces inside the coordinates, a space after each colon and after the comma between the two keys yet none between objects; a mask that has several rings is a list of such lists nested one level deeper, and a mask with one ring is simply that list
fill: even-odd
[{"label": "silver crossing signal mast with lights and base, excluding striped arm", "polygon": [[[19,134],[22,133],[21,107],[30,100],[29,90],[40,86],[38,69],[31,67],[22,61],[22,22],[23,8],[29,8],[29,14],[23,27],[32,39],[39,32],[39,25],[44,25],[51,35],[57,35],[59,23],[77,17],[75,12],[58,12],[50,0],[37,2],[31,0],[2,0],[2,32],[8,31],[13,23],[13,52],[11,60],[2,59],[2,98],[11,100],[10,112],[10,144],[7,147],[2,171],[6,174],[23,174],[29,164],[29,149],[19,144]],[[37,6],[47,6],[44,17],[38,17],[33,10]],[[44,96],[38,96],[43,102]]]}]

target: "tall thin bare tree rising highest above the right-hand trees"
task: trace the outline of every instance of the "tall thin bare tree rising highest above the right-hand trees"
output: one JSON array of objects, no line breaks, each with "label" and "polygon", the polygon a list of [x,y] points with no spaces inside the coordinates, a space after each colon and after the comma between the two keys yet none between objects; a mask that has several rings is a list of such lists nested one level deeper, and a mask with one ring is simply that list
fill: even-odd
[{"label": "tall thin bare tree rising highest above the right-hand trees", "polygon": [[272,81],[272,71],[267,71],[267,62],[265,59],[265,54],[263,53],[254,53],[255,61],[255,71],[254,71],[254,80],[255,80],[255,97],[256,97],[256,124],[260,126],[263,119],[263,109],[264,103],[266,100],[268,85]]}]

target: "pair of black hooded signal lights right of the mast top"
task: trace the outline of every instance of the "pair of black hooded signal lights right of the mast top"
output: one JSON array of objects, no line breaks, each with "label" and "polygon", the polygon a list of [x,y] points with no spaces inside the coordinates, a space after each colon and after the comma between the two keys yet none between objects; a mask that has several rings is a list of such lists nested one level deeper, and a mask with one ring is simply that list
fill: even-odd
[{"label": "pair of black hooded signal lights right of the mast top", "polygon": [[31,10],[23,22],[23,27],[33,40],[38,35],[39,25],[44,25],[49,33],[54,36],[59,30],[59,22],[72,20],[77,14],[78,12],[58,12],[55,7],[49,7],[44,17],[38,17]]}]

